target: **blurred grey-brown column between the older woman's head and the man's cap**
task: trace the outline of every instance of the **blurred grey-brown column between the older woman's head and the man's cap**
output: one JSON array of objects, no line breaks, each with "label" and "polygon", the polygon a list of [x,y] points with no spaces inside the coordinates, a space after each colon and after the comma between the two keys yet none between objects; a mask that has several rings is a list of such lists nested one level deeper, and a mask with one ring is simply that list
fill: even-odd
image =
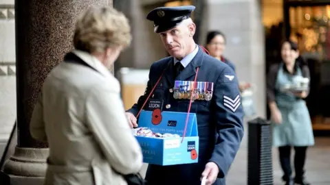
[{"label": "blurred grey-brown column between the older woman's head and the man's cap", "polygon": [[153,62],[166,57],[166,50],[158,34],[153,32],[153,23],[146,19],[148,12],[164,5],[166,0],[115,0],[113,5],[124,12],[132,27],[131,47],[125,49],[115,62],[115,69],[129,67],[149,69]]}]

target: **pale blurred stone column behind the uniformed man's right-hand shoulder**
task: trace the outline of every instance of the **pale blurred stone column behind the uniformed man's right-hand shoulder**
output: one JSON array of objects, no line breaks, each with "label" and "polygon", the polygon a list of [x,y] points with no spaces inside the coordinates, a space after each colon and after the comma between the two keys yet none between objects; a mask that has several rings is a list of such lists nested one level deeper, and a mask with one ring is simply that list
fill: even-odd
[{"label": "pale blurred stone column behind the uniformed man's right-hand shoulder", "polygon": [[254,101],[258,116],[266,116],[265,40],[259,0],[207,0],[201,43],[206,32],[218,29],[227,38],[225,57],[236,65],[240,81],[256,86]]}]

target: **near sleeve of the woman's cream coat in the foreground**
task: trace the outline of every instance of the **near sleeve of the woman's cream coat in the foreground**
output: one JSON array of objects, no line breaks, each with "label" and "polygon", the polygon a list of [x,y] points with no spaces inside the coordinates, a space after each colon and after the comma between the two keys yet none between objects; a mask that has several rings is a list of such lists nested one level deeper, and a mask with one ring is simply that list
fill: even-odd
[{"label": "near sleeve of the woman's cream coat in the foreground", "polygon": [[86,116],[111,167],[123,175],[140,171],[142,151],[129,127],[119,93],[106,87],[91,90]]}]

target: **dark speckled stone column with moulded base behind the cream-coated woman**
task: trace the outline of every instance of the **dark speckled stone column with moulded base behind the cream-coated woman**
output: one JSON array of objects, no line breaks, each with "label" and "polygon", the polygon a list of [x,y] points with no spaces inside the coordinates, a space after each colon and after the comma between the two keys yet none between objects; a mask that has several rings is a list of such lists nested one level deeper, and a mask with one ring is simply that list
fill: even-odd
[{"label": "dark speckled stone column with moulded base behind the cream-coated woman", "polygon": [[[72,49],[76,17],[109,0],[15,1],[18,145],[5,163],[1,184],[42,184],[47,143],[30,136],[32,110],[47,74]],[[22,182],[23,181],[23,182]]]}]

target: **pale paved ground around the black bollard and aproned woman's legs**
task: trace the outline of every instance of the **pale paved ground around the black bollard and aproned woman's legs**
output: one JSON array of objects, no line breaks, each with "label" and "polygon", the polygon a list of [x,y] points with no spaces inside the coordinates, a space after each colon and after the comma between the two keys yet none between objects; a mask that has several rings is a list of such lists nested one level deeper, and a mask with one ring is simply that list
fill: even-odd
[{"label": "pale paved ground around the black bollard and aproned woman's legs", "polygon": [[[245,133],[245,138],[241,145],[239,153],[232,164],[228,173],[228,185],[245,185],[247,184],[247,169],[248,169],[248,133]],[[294,152],[292,152],[294,153]],[[277,150],[273,150],[273,169],[274,169],[274,185],[281,185],[282,171],[278,163]],[[316,145],[311,147],[307,154],[307,179],[312,185],[330,185],[330,137],[316,138]],[[146,165],[142,170],[144,175]],[[257,185],[257,184],[256,184]]]}]

